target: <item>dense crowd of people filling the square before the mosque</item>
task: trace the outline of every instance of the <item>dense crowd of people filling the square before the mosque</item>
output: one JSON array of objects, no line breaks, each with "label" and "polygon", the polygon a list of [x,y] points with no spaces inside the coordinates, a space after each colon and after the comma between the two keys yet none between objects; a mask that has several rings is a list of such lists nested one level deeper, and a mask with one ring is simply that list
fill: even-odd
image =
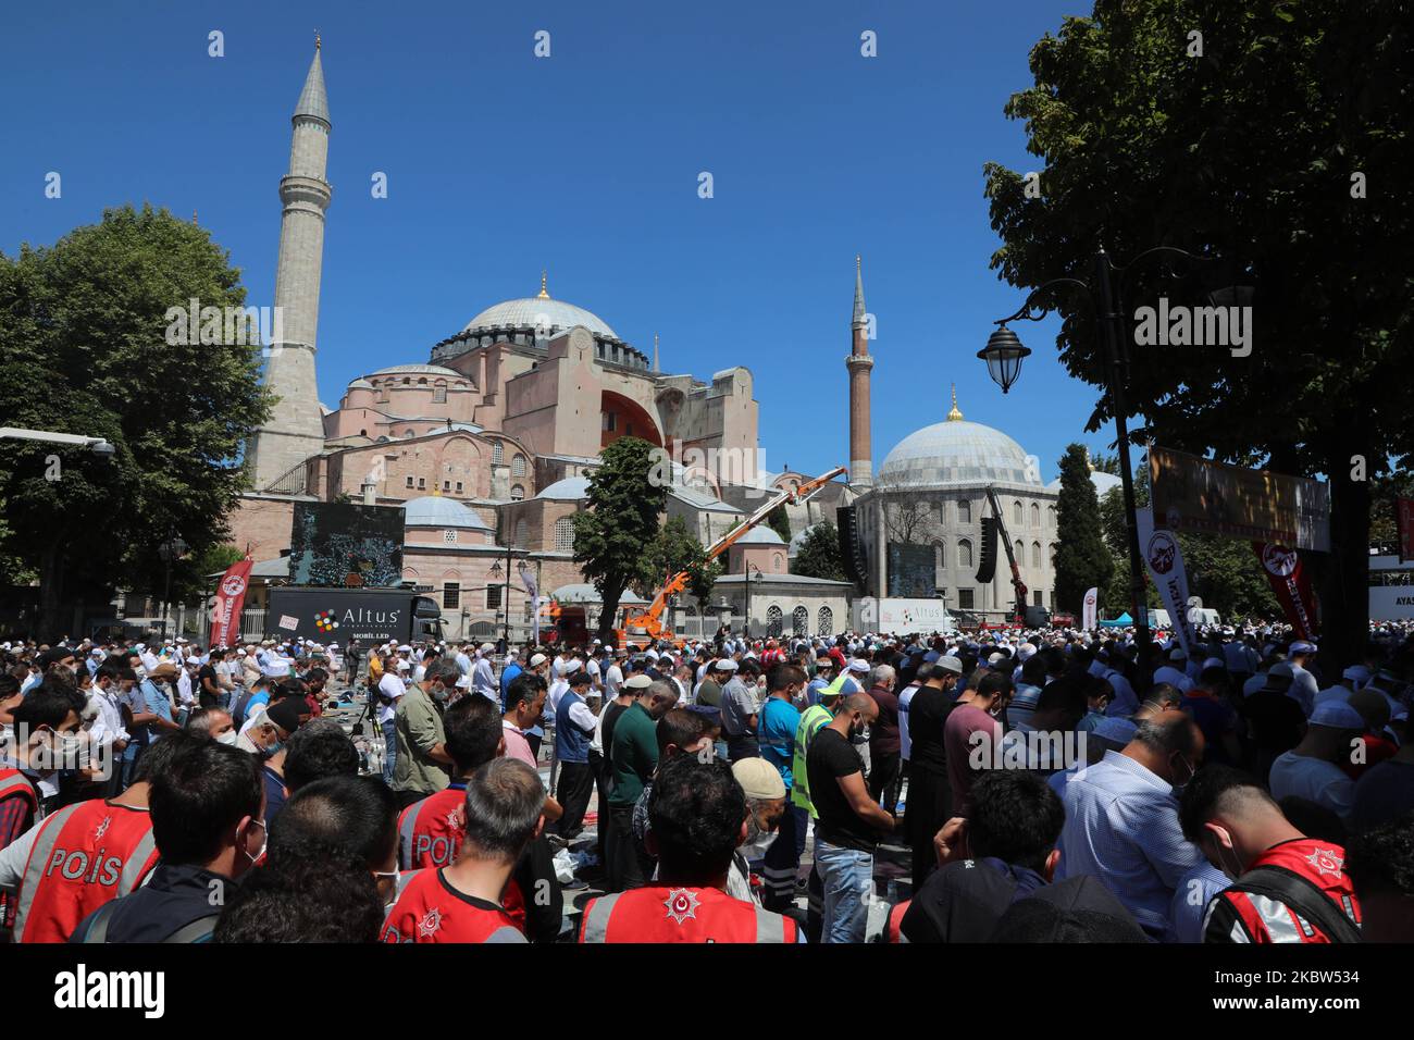
[{"label": "dense crowd of people filling the square before the mosque", "polygon": [[0,655],[6,941],[1414,940],[1408,625]]}]

